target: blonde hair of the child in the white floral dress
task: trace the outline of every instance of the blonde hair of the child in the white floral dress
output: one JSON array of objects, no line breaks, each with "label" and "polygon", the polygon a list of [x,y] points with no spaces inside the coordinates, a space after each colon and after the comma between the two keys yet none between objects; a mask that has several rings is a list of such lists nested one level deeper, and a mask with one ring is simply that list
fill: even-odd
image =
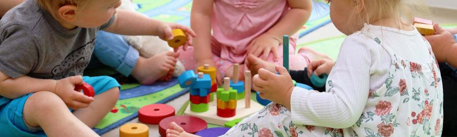
[{"label": "blonde hair of the child in the white floral dress", "polygon": [[397,26],[412,24],[416,16],[430,16],[429,9],[423,0],[348,0],[354,5],[364,1],[364,9],[360,14],[353,15],[350,20],[357,20],[358,26],[363,23],[372,24],[383,18],[396,18]]}]

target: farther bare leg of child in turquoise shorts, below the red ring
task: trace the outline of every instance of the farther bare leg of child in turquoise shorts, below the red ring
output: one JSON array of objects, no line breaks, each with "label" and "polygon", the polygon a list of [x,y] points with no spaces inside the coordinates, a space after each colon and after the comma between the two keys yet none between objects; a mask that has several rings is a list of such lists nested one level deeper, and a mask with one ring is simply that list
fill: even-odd
[{"label": "farther bare leg of child in turquoise shorts, below the red ring", "polygon": [[73,114],[89,127],[95,127],[119,99],[119,88],[114,87],[94,97],[89,107],[73,111]]}]

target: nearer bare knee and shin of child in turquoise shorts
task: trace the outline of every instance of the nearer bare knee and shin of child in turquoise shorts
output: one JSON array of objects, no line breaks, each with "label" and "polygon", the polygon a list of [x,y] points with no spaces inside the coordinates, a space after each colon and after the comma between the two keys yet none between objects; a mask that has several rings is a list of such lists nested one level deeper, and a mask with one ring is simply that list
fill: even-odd
[{"label": "nearer bare knee and shin of child in turquoise shorts", "polygon": [[51,92],[31,95],[25,102],[23,117],[26,124],[41,127],[48,136],[99,136]]}]

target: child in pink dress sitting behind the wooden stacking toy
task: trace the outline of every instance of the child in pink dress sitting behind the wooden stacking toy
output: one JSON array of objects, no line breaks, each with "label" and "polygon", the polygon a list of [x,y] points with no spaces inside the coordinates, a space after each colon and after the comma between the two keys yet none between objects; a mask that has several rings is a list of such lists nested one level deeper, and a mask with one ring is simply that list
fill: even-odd
[{"label": "child in pink dress sitting behind the wooden stacking toy", "polygon": [[282,37],[287,34],[293,35],[289,39],[290,68],[303,69],[311,57],[304,52],[294,54],[298,38],[294,34],[310,14],[311,0],[193,1],[191,27],[197,33],[195,47],[187,52],[181,50],[179,60],[188,70],[204,64],[216,67],[220,84],[222,77],[232,77],[233,64],[241,64],[240,72],[244,72],[248,54],[283,65]]}]

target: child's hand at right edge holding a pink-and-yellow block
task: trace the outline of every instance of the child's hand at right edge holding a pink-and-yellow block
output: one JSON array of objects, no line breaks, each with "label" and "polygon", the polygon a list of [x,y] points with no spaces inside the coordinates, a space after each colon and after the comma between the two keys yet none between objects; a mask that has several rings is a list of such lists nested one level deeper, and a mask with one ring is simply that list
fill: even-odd
[{"label": "child's hand at right edge holding a pink-and-yellow block", "polygon": [[425,38],[432,45],[436,60],[438,62],[447,62],[446,56],[448,56],[451,45],[455,43],[455,39],[449,31],[444,30],[438,24],[435,24],[434,28],[435,35],[425,36]]}]

